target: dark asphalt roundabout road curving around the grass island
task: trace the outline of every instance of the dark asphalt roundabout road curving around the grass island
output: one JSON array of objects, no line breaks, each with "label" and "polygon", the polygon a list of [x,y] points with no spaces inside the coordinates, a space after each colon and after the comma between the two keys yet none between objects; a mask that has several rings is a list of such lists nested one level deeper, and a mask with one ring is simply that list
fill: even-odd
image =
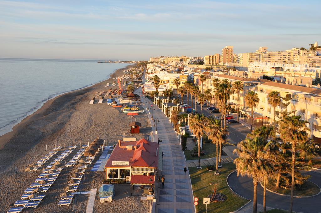
[{"label": "dark asphalt roundabout road curving around the grass island", "polygon": [[[303,174],[311,175],[310,181],[321,187],[321,172],[319,171],[303,171]],[[237,177],[236,172],[231,174],[228,179],[231,189],[239,195],[253,200],[253,182],[248,177]],[[257,202],[263,204],[263,188],[260,184],[257,186]],[[279,209],[289,209],[290,197],[281,196],[266,191],[266,206]],[[321,193],[310,198],[294,198],[293,211],[306,213],[321,212]]]}]

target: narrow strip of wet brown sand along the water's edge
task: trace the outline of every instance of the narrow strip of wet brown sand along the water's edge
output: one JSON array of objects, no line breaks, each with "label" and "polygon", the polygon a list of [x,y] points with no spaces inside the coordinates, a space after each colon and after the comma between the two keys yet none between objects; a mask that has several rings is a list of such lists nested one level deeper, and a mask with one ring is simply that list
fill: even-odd
[{"label": "narrow strip of wet brown sand along the water's edge", "polygon": [[[97,88],[98,86],[101,86],[101,84],[107,84],[109,81],[113,81],[113,78],[115,77],[118,77],[119,75],[122,75],[123,74],[123,71],[126,70],[126,69],[129,69],[131,67],[135,66],[135,64],[130,64],[130,65],[127,65],[126,67],[124,68],[120,68],[120,69],[117,69],[115,70],[114,72],[112,72],[110,75],[109,75],[109,78],[108,79],[105,79],[105,80],[102,80],[102,81],[99,81],[97,83],[94,83],[94,84],[91,84],[91,85],[88,85],[88,86],[85,86],[83,88],[80,88],[80,89],[75,89],[75,90],[72,90],[72,91],[68,91],[68,92],[65,92],[65,93],[62,93],[62,94],[59,94],[59,95],[56,95],[55,97],[52,97],[48,100],[46,100],[45,102],[43,102],[43,104],[41,104],[41,106],[36,109],[35,111],[33,111],[30,115],[27,115],[26,117],[24,117],[19,123],[15,124],[13,127],[12,127],[12,130],[10,132],[6,132],[5,134],[1,135],[0,136],[0,156],[1,156],[1,152],[3,151],[3,149],[5,148],[6,144],[8,142],[10,142],[10,140],[17,134],[21,133],[22,130],[25,130],[27,129],[26,127],[40,119],[41,117],[43,117],[44,115],[48,114],[48,110],[50,110],[50,108],[52,108],[52,105],[56,103],[55,102],[60,102],[59,104],[61,105],[65,105],[67,104],[68,102],[70,102],[70,97],[67,98],[67,100],[64,100],[64,101],[60,101],[60,99],[64,99],[65,97],[68,97],[68,96],[71,96],[74,97],[74,96],[77,96],[77,95],[81,95],[81,94],[85,94],[86,92],[89,92],[90,90],[93,90],[95,88]],[[79,100],[80,101],[80,100]],[[56,107],[56,106],[55,106]],[[0,158],[1,160],[1,158]],[[4,172],[4,168],[1,166],[1,170],[0,173]]]}]

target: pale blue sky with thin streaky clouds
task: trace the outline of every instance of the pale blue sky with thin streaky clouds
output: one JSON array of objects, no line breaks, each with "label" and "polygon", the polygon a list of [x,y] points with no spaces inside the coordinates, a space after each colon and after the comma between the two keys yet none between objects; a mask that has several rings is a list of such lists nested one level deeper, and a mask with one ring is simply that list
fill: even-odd
[{"label": "pale blue sky with thin streaky clouds", "polygon": [[[321,1],[2,1],[0,57],[149,60],[308,48]],[[319,39],[319,40],[318,40]]]}]

